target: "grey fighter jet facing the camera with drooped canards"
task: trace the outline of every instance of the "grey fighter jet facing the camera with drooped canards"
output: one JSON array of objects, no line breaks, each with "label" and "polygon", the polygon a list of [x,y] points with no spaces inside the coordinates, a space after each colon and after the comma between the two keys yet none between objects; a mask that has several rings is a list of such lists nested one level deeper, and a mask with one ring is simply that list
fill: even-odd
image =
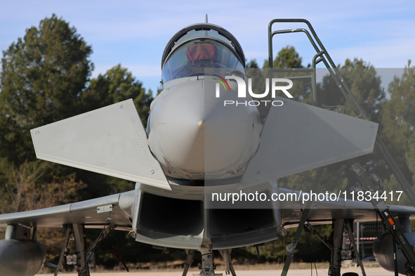
[{"label": "grey fighter jet facing the camera with drooped canards", "polygon": [[[289,78],[270,77],[269,95],[251,93],[244,68],[244,52],[230,32],[209,23],[190,25],[166,45],[163,90],[151,104],[147,129],[132,100],[32,129],[39,159],[131,180],[136,188],[0,215],[0,230],[6,230],[0,275],[29,276],[41,269],[46,254],[36,230],[42,227],[65,230],[55,275],[67,263],[70,237],[79,252],[77,270],[89,275],[84,231],[102,228],[128,231],[156,247],[185,249],[183,275],[201,251],[200,275],[213,276],[213,250],[235,275],[231,249],[277,239],[285,228],[304,225],[302,219],[335,220],[337,229],[348,219],[376,220],[369,202],[344,199],[316,199],[303,215],[310,191],[278,188],[276,179],[371,153],[378,124],[291,100]],[[262,114],[258,105],[266,104]],[[414,208],[389,210],[394,216],[415,214]]]}]

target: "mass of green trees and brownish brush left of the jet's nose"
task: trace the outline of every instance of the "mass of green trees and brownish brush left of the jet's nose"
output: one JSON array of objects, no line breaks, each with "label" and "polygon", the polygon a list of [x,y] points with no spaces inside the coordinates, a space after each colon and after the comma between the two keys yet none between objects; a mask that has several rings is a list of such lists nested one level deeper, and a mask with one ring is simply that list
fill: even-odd
[{"label": "mass of green trees and brownish brush left of the jet's nose", "polygon": [[[145,93],[142,84],[121,65],[89,79],[91,53],[91,46],[76,29],[56,15],[27,29],[23,39],[3,52],[0,213],[57,206],[133,188],[126,180],[35,161],[29,130],[37,126],[128,98],[136,104],[143,124],[147,121],[150,91]],[[48,260],[56,262],[62,245],[60,230],[41,229],[38,235]]]}]

